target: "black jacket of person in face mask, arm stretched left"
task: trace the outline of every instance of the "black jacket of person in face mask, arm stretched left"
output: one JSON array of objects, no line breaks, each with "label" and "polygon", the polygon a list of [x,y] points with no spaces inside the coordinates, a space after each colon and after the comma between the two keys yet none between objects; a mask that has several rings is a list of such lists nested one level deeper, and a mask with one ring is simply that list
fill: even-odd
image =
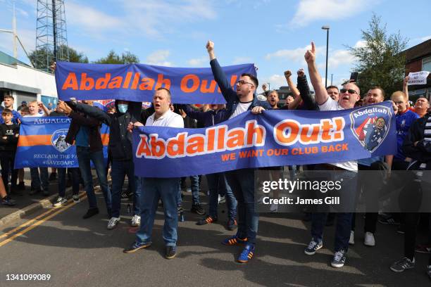
[{"label": "black jacket of person in face mask, arm stretched left", "polygon": [[70,102],[70,107],[100,120],[108,125],[109,131],[109,153],[113,160],[132,160],[132,134],[127,132],[129,122],[136,122],[141,117],[142,102],[129,101],[126,113],[118,112],[118,101],[115,101],[114,114],[105,113],[100,108],[82,103]]}]

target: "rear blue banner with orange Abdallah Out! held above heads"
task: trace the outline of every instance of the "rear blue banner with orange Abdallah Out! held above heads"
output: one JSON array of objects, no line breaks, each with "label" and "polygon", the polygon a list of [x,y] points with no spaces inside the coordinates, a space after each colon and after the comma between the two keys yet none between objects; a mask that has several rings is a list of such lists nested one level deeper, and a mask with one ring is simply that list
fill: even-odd
[{"label": "rear blue banner with orange Abdallah Out! held above heads", "polygon": [[[256,75],[253,64],[227,66],[223,71],[234,88],[242,73]],[[115,98],[151,102],[154,91],[165,87],[170,89],[173,103],[225,103],[211,68],[58,62],[56,85],[63,101]]]}]

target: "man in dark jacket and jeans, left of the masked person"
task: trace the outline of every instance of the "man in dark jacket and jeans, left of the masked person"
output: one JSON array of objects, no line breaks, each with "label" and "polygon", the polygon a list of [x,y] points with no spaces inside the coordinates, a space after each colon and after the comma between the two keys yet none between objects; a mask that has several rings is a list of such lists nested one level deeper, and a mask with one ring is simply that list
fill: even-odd
[{"label": "man in dark jacket and jeans, left of the masked person", "polygon": [[[91,102],[82,101],[82,105],[87,103]],[[111,191],[108,187],[108,179],[106,179],[106,169],[104,166],[103,144],[101,142],[99,131],[101,122],[92,117],[88,117],[83,113],[73,110],[63,101],[58,101],[58,108],[63,110],[65,115],[68,115],[68,117],[72,119],[65,141],[68,144],[73,144],[75,142],[78,165],[80,167],[82,179],[84,181],[85,192],[87,193],[89,209],[82,218],[87,219],[99,213],[96,195],[94,194],[90,160],[93,162],[93,165],[96,169],[100,188],[102,193],[104,193],[108,217],[111,218],[112,199]]]}]

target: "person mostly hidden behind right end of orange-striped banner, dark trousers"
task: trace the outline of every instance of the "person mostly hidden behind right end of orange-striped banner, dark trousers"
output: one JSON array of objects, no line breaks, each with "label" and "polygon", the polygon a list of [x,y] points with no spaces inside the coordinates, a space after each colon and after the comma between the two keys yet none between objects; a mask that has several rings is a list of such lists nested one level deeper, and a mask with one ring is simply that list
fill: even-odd
[{"label": "person mostly hidden behind right end of orange-striped banner, dark trousers", "polygon": [[[50,114],[50,117],[65,117],[66,114],[61,106],[57,106]],[[67,136],[66,136],[67,139]],[[67,142],[67,141],[66,141]],[[58,197],[54,201],[54,206],[58,207],[66,203],[68,200],[65,198],[65,188],[66,188],[66,170],[70,174],[72,179],[72,199],[74,203],[80,202],[80,171],[78,167],[59,167],[56,169],[58,172]]]}]

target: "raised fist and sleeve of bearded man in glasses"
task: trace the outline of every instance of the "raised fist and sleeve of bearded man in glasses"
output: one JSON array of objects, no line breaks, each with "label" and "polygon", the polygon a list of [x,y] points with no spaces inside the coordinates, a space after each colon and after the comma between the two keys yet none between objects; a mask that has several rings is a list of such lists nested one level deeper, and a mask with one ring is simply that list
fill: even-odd
[{"label": "raised fist and sleeve of bearded man in glasses", "polygon": [[215,82],[217,82],[218,87],[220,87],[225,100],[227,102],[235,101],[238,98],[237,93],[232,89],[232,87],[230,87],[229,79],[227,79],[225,72],[220,67],[218,60],[215,58],[213,42],[208,41],[208,43],[206,43],[206,51],[208,51],[211,70],[213,71]]}]

